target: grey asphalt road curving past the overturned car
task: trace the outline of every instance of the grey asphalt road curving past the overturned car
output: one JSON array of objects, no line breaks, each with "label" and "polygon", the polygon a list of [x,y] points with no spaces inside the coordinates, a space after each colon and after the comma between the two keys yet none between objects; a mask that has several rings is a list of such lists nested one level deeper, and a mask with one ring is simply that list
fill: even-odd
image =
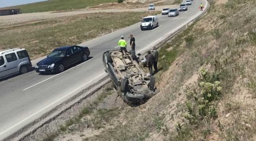
[{"label": "grey asphalt road curving past the overturned car", "polygon": [[[140,23],[137,23],[81,43],[89,47],[91,58],[60,74],[41,75],[31,71],[0,80],[0,140],[106,76],[102,53],[119,48],[117,42],[121,35],[127,42],[129,34],[134,35],[136,52],[150,49],[168,34],[202,14],[198,9],[200,2],[207,6],[204,0],[194,0],[192,5],[188,5],[188,10],[181,11],[179,16],[158,15],[160,26],[154,30],[141,31]],[[127,49],[130,50],[130,46]],[[37,61],[32,61],[33,66]]]}]

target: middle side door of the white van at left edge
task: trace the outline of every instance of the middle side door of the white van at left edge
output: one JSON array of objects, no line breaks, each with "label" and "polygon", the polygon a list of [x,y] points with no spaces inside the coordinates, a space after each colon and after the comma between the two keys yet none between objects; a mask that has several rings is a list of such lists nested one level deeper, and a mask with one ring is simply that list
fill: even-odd
[{"label": "middle side door of the white van at left edge", "polygon": [[6,58],[6,71],[9,74],[14,74],[15,72],[19,72],[19,62],[17,61],[16,53],[10,53],[5,55]]}]

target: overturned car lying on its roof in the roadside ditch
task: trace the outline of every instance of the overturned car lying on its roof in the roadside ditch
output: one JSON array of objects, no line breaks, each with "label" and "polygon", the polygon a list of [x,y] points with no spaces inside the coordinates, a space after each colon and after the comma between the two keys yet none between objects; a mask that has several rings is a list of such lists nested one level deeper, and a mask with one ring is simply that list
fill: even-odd
[{"label": "overturned car lying on its roof in the roadside ditch", "polygon": [[135,52],[106,51],[102,60],[115,89],[127,103],[138,104],[156,94],[155,77],[148,77],[139,67]]}]

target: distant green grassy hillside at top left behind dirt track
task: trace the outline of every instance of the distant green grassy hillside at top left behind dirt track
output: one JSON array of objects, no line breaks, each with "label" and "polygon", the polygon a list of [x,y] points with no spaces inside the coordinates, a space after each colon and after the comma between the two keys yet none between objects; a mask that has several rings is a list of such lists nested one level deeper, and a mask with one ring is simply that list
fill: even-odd
[{"label": "distant green grassy hillside at top left behind dirt track", "polygon": [[0,9],[21,9],[22,13],[61,11],[67,9],[82,9],[88,6],[99,5],[102,3],[117,2],[117,0],[47,0],[31,4],[4,7]]}]

